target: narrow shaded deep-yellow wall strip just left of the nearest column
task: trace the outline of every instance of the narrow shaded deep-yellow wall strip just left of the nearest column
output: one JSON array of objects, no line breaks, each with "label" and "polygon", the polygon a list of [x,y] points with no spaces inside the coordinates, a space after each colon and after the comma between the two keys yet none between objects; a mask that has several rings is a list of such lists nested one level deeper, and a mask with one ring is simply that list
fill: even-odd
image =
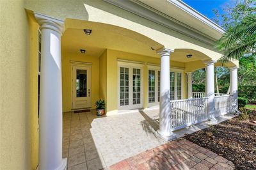
[{"label": "narrow shaded deep-yellow wall strip just left of the nearest column", "polygon": [[28,113],[30,131],[30,157],[31,169],[38,165],[38,29],[39,26],[28,12],[28,47],[29,55],[27,62],[28,85]]}]

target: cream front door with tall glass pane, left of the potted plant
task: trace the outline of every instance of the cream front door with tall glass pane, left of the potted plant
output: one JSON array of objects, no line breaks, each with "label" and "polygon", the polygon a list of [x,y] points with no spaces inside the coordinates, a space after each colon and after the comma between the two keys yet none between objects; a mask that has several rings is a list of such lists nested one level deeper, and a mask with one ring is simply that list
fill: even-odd
[{"label": "cream front door with tall glass pane, left of the potted plant", "polygon": [[72,109],[91,107],[90,66],[72,65]]}]

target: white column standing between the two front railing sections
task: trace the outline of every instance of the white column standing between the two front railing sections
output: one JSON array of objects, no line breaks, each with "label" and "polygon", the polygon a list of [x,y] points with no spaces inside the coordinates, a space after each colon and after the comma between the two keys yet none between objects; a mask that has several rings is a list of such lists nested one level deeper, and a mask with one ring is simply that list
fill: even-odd
[{"label": "white column standing between the two front railing sections", "polygon": [[205,87],[205,96],[208,98],[207,102],[207,112],[209,114],[209,120],[211,123],[216,123],[216,119],[214,116],[215,108],[214,108],[214,63],[216,61],[206,61],[206,87]]}]

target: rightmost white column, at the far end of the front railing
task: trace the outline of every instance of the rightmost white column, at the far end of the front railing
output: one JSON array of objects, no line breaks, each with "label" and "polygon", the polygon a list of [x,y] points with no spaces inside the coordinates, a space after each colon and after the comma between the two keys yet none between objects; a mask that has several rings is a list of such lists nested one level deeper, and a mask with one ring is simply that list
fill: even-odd
[{"label": "rightmost white column, at the far end of the front railing", "polygon": [[238,111],[237,66],[234,66],[229,69],[230,69],[230,95],[233,95],[232,98],[234,100],[234,101],[232,101],[232,107],[234,108],[234,111]]}]

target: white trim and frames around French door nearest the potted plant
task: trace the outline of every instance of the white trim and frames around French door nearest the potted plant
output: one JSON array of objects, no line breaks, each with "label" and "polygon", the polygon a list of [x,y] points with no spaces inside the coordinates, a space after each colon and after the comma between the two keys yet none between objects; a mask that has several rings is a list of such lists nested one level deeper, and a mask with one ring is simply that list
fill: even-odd
[{"label": "white trim and frames around French door nearest the potted plant", "polygon": [[[140,62],[136,62],[134,61],[134,63],[132,61],[130,62],[125,62],[124,60],[120,61],[118,60],[118,110],[125,110],[125,109],[141,109],[143,108],[143,93],[144,93],[144,89],[143,89],[143,66],[144,63],[140,63]],[[125,67],[125,68],[129,68],[129,105],[124,105],[121,106],[120,105],[120,67]],[[140,93],[140,104],[136,104],[133,105],[132,104],[132,98],[133,98],[133,90],[132,90],[132,68],[138,68],[141,70],[141,93]],[[131,89],[131,90],[130,90]]]}]

